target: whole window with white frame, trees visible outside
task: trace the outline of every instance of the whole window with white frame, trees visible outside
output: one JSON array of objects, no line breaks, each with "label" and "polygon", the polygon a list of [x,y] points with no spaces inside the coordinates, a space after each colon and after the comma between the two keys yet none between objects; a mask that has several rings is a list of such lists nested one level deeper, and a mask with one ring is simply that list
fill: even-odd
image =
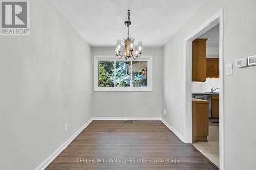
[{"label": "whole window with white frame, trees visible outside", "polygon": [[94,56],[94,91],[152,91],[152,57]]}]

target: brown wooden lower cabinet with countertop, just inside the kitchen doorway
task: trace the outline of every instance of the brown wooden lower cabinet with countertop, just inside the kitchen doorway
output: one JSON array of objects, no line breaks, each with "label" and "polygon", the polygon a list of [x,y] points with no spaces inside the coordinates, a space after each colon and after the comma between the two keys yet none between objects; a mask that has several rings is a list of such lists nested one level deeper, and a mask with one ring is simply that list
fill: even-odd
[{"label": "brown wooden lower cabinet with countertop, just inside the kitchen doorway", "polygon": [[192,99],[192,140],[207,142],[209,135],[209,101]]}]

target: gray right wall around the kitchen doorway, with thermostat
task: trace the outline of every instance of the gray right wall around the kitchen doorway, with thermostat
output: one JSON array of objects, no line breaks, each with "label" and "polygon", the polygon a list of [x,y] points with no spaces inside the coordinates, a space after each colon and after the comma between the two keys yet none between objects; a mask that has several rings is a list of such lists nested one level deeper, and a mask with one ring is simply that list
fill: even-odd
[{"label": "gray right wall around the kitchen doorway, with thermostat", "polygon": [[[224,8],[224,65],[256,55],[256,1],[206,1],[163,47],[163,117],[183,134],[183,40]],[[256,66],[224,76],[224,166],[253,169],[255,155]]]}]

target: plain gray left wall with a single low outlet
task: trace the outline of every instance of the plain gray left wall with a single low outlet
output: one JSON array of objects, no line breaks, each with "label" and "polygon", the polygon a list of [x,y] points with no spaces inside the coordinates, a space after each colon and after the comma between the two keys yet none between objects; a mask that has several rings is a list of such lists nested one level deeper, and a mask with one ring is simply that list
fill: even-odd
[{"label": "plain gray left wall with a single low outlet", "polygon": [[91,47],[49,0],[30,3],[31,35],[0,37],[6,170],[36,168],[92,116]]}]

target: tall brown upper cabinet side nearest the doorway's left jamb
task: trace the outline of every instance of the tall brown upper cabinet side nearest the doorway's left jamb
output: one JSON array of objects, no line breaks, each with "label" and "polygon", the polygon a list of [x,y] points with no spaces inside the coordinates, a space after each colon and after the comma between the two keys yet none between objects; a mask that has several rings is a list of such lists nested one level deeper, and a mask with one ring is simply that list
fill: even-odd
[{"label": "tall brown upper cabinet side nearest the doorway's left jamb", "polygon": [[195,39],[192,41],[192,81],[206,81],[206,41]]}]

